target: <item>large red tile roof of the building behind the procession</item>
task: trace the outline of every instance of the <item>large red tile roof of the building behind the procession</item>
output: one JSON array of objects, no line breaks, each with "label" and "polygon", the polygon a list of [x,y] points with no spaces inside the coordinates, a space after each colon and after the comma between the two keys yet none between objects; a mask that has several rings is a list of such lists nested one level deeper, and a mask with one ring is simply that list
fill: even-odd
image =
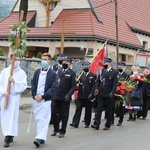
[{"label": "large red tile roof of the building behind the procession", "polygon": [[[110,0],[92,0],[103,24],[97,21],[91,9],[63,10],[50,28],[32,28],[28,37],[51,37],[51,33],[61,33],[62,22],[66,20],[66,33],[76,36],[116,40],[115,3]],[[108,3],[108,4],[106,4]],[[106,4],[106,5],[103,5]],[[133,46],[142,46],[130,27],[149,32],[150,29],[150,0],[118,0],[119,41]],[[0,22],[0,36],[4,28],[15,23],[17,15],[13,13]],[[1,30],[3,28],[3,30]],[[4,32],[7,35],[8,32]]]}]

